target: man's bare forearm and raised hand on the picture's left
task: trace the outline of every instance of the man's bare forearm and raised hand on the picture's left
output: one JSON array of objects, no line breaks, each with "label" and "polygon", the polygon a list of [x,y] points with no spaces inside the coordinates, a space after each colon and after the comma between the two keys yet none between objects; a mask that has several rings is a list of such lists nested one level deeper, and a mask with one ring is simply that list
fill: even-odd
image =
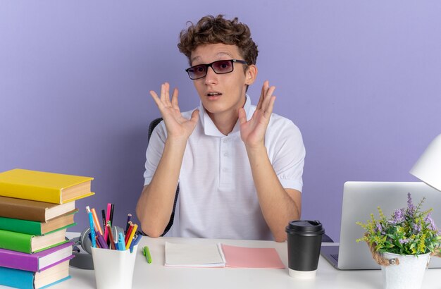
[{"label": "man's bare forearm and raised hand on the picture's left", "polygon": [[170,85],[167,82],[161,85],[161,97],[154,91],[150,94],[166,123],[167,140],[163,144],[163,153],[154,176],[139,196],[136,214],[144,233],[150,237],[159,237],[170,221],[182,158],[188,137],[199,120],[199,110],[193,111],[190,120],[182,117],[178,106],[178,90],[173,90],[170,101]]}]

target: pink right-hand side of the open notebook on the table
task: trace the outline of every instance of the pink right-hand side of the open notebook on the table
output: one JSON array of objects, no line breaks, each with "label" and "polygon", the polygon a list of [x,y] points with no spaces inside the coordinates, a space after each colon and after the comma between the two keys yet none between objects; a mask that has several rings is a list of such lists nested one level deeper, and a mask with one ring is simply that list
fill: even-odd
[{"label": "pink right-hand side of the open notebook on the table", "polygon": [[222,244],[227,267],[234,268],[276,268],[285,265],[274,248],[249,248]]}]

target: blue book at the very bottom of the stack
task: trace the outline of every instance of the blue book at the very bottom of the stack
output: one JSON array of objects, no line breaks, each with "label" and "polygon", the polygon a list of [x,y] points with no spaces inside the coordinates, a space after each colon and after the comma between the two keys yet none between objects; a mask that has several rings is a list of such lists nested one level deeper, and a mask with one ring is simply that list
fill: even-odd
[{"label": "blue book at the very bottom of the stack", "polygon": [[13,288],[46,288],[68,278],[69,260],[39,272],[0,267],[0,285]]}]

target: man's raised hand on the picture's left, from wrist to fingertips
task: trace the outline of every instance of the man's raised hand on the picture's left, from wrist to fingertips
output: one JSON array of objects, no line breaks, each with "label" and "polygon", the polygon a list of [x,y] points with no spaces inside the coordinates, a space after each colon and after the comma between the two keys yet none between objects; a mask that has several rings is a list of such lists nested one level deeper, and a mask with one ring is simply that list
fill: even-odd
[{"label": "man's raised hand on the picture's left, from wrist to fingertips", "polygon": [[199,110],[193,111],[190,120],[183,118],[178,105],[178,89],[173,90],[170,102],[168,82],[161,85],[161,97],[158,97],[158,94],[153,90],[150,91],[150,95],[156,102],[164,123],[166,123],[168,137],[182,137],[187,140],[199,120]]}]

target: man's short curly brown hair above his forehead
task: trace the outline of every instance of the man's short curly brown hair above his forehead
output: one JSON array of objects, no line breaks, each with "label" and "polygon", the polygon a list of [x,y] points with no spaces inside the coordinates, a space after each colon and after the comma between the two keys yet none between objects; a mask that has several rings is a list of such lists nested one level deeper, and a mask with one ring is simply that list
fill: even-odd
[{"label": "man's short curly brown hair above his forehead", "polygon": [[256,64],[257,45],[251,38],[249,27],[237,20],[223,18],[223,15],[204,16],[196,25],[192,22],[187,30],[180,32],[179,51],[187,56],[192,65],[192,51],[201,44],[230,44],[236,45],[240,55],[247,61],[247,64]]}]

